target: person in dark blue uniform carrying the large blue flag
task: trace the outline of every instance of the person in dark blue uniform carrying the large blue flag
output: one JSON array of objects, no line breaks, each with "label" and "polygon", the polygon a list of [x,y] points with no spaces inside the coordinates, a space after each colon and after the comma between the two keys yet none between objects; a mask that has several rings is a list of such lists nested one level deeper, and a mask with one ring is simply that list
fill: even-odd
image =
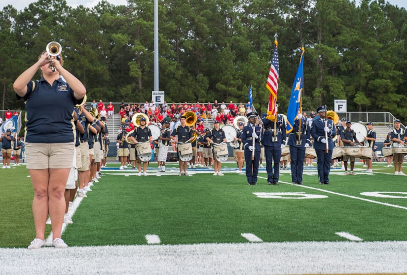
[{"label": "person in dark blue uniform carrying the large blue flag", "polygon": [[308,119],[299,113],[294,121],[293,132],[288,138],[291,156],[291,179],[293,184],[302,184],[302,172],[304,170],[305,148],[309,147],[310,128]]}]

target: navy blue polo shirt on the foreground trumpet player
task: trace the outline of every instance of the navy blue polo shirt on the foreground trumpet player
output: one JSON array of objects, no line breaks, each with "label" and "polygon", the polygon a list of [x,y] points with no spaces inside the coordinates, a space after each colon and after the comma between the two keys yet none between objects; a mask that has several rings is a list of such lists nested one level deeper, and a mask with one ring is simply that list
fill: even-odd
[{"label": "navy blue polo shirt on the foreground trumpet player", "polygon": [[[41,78],[27,84],[26,103],[26,142],[68,143],[74,142],[75,127],[73,112],[78,102],[74,91],[62,78],[49,83]],[[21,97],[17,95],[17,99]]]}]

